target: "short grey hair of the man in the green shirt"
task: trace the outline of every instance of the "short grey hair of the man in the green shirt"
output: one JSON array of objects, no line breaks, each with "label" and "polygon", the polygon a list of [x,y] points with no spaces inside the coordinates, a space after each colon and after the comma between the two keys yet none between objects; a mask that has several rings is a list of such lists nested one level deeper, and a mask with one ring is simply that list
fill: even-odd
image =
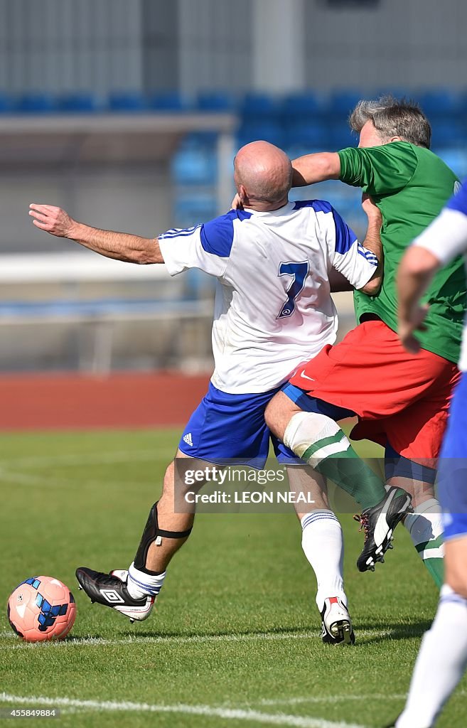
[{"label": "short grey hair of the man in the green shirt", "polygon": [[420,106],[412,100],[396,100],[392,96],[381,96],[372,101],[362,100],[357,103],[348,121],[356,132],[361,132],[366,122],[373,122],[384,142],[399,136],[415,146],[430,149],[430,122]]}]

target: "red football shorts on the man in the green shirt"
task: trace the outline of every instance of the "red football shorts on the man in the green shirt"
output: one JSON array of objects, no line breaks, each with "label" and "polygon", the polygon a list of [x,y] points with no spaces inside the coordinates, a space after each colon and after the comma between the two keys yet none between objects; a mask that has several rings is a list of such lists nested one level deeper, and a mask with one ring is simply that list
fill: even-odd
[{"label": "red football shorts on the man in the green shirt", "polygon": [[455,364],[426,349],[409,354],[397,334],[375,320],[356,326],[340,344],[324,347],[298,368],[290,384],[353,410],[359,417],[354,440],[429,459],[439,455],[459,378]]}]

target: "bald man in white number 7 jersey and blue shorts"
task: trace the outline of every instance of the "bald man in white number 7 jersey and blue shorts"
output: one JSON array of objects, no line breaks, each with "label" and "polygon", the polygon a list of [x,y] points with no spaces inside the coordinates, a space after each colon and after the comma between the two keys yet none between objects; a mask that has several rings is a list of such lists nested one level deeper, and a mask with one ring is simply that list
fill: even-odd
[{"label": "bald man in white number 7 jersey and blue shorts", "polygon": [[[111,574],[84,567],[76,571],[93,601],[131,620],[151,613],[167,565],[193,526],[193,513],[175,513],[175,463],[177,472],[185,462],[190,468],[232,460],[263,467],[270,440],[266,405],[303,360],[335,341],[338,320],[330,271],[337,270],[366,293],[380,286],[381,218],[369,201],[362,246],[328,202],[288,201],[292,165],[271,144],[243,147],[236,156],[234,181],[242,210],[156,239],[95,229],[59,207],[31,205],[37,227],[96,253],[139,264],[165,263],[172,276],[199,268],[217,279],[215,371],[183,431],[176,459],[167,467],[161,498],[151,507],[135,559],[128,570]],[[273,438],[273,444],[279,462],[296,462],[282,443]],[[328,593],[318,577],[323,639],[341,644],[354,641],[343,591],[342,535],[331,511],[322,519],[332,531],[329,542],[335,542],[334,550],[330,546],[335,563],[322,569],[322,581],[331,579]]]}]

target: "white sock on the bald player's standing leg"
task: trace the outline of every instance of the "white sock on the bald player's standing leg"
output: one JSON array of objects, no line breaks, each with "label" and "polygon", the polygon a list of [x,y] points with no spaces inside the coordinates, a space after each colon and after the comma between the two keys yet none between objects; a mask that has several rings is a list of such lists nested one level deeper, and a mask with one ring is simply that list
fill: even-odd
[{"label": "white sock on the bald player's standing leg", "polygon": [[332,510],[313,510],[304,515],[300,523],[302,548],[318,582],[316,605],[319,611],[322,612],[324,599],[331,596],[338,596],[347,604],[342,575],[344,545],[338,519]]}]

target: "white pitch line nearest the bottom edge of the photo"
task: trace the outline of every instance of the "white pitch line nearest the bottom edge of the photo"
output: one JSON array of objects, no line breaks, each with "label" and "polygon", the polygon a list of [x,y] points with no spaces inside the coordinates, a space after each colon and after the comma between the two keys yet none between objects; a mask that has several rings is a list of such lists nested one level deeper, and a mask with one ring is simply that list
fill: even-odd
[{"label": "white pitch line nearest the bottom edge of the photo", "polygon": [[84,708],[90,711],[133,712],[133,713],[182,713],[191,716],[206,716],[207,718],[222,718],[224,720],[251,721],[277,726],[292,726],[295,728],[364,728],[355,723],[343,721],[326,721],[321,718],[308,718],[305,716],[290,716],[285,713],[261,713],[260,711],[244,710],[242,708],[215,708],[211,705],[152,705],[151,703],[116,703],[111,700],[73,700],[69,697],[44,697],[42,695],[8,695],[0,693],[0,703],[50,705],[57,708]]}]

